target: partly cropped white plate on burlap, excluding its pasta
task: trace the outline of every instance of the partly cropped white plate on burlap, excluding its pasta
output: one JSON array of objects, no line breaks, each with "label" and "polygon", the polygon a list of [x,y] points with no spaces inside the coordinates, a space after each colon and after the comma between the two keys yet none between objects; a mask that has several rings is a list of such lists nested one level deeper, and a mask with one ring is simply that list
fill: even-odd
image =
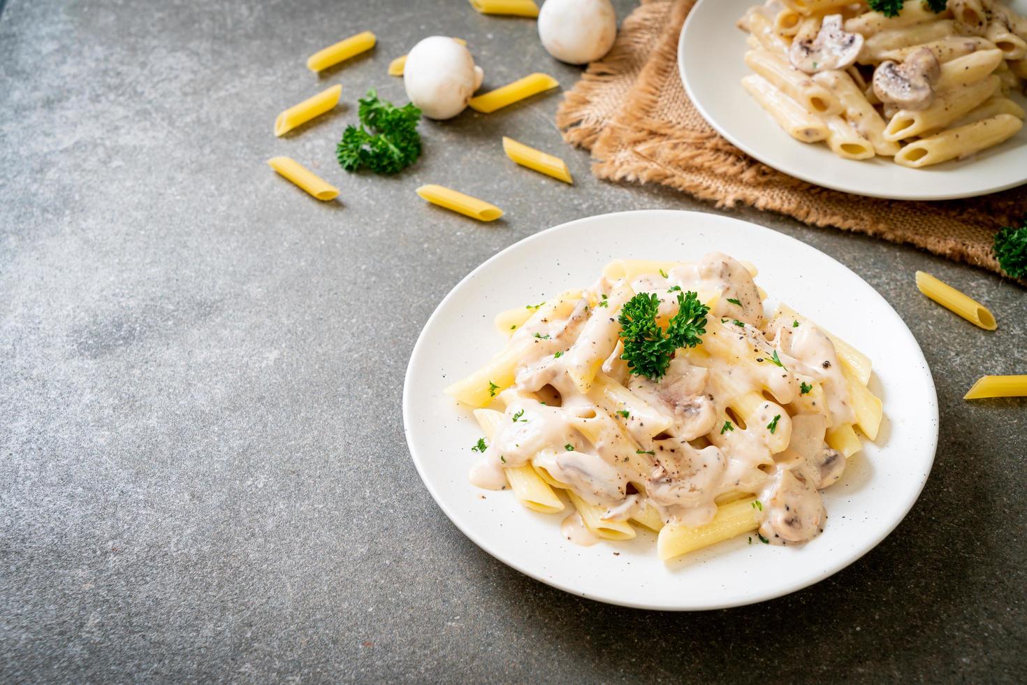
[{"label": "partly cropped white plate on burlap, excluding its pasta", "polygon": [[[962,161],[906,168],[889,159],[842,159],[827,145],[800,143],[741,87],[746,33],[735,22],[757,0],[699,0],[678,43],[678,70],[699,113],[738,148],[768,166],[846,193],[906,200],[986,195],[1027,183],[1027,127],[1001,145]],[[1027,13],[1027,0],[1010,5]],[[1024,105],[1023,99],[1020,104]]]}]

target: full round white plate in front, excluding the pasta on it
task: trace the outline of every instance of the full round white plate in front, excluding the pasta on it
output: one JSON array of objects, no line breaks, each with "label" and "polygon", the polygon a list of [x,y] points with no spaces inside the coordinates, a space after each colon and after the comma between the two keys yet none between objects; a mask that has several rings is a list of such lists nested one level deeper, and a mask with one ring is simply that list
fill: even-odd
[{"label": "full round white plate in front, excluding the pasta on it", "polygon": [[[750,260],[756,281],[874,361],[871,389],[884,401],[877,445],[854,455],[824,491],[828,525],[804,546],[746,537],[663,564],[655,535],[577,546],[560,534],[564,513],[530,511],[509,491],[467,482],[481,431],[469,408],[443,388],[485,364],[505,342],[493,316],[599,277],[612,259],[697,259],[721,251]],[[775,306],[770,300],[767,307]],[[899,315],[870,286],[816,250],[734,219],[691,212],[626,212],[581,219],[514,244],[474,269],[424,327],[407,369],[407,443],[443,511],[480,547],[575,595],[647,609],[714,609],[785,595],[852,563],[913,505],[938,441],[938,401],[927,363]],[[754,538],[755,539],[755,538]],[[615,554],[619,553],[619,554]]]}]

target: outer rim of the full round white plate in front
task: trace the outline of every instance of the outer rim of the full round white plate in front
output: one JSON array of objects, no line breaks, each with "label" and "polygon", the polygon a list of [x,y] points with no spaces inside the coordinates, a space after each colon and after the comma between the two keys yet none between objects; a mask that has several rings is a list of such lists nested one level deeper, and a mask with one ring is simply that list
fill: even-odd
[{"label": "outer rim of the full round white plate in front", "polygon": [[[834,264],[838,268],[841,268],[841,269],[844,269],[845,271],[848,271],[850,274],[852,274],[854,277],[859,278],[861,281],[863,281],[867,286],[867,288],[878,298],[878,300],[880,301],[880,303],[883,304],[885,307],[887,307],[887,309],[890,310],[891,313],[896,316],[896,318],[901,324],[901,329],[902,329],[904,335],[909,339],[910,342],[912,342],[914,349],[919,354],[919,360],[922,361],[922,369],[924,371],[923,375],[924,375],[924,377],[926,379],[926,382],[927,382],[927,389],[929,390],[929,398],[930,398],[930,402],[928,403],[928,407],[927,407],[928,410],[929,410],[929,416],[926,417],[926,418],[929,421],[929,423],[934,426],[934,430],[930,431],[930,434],[926,435],[926,437],[929,437],[929,442],[930,442],[930,449],[929,449],[930,457],[929,457],[929,460],[928,460],[928,462],[927,462],[927,464],[925,466],[925,472],[924,472],[922,479],[920,480],[919,484],[914,488],[915,492],[913,492],[912,495],[909,497],[909,501],[907,501],[904,504],[902,515],[899,516],[899,517],[897,517],[893,521],[891,521],[889,523],[889,525],[886,526],[886,528],[882,531],[882,533],[879,535],[879,537],[876,537],[876,539],[874,539],[872,542],[866,543],[864,545],[864,548],[861,549],[857,555],[854,555],[854,556],[852,556],[850,558],[846,557],[843,561],[833,562],[833,563],[829,564],[828,567],[823,571],[823,573],[821,573],[820,575],[816,575],[815,577],[806,578],[806,579],[803,579],[803,580],[800,580],[800,581],[797,581],[797,582],[788,583],[788,584],[783,585],[783,586],[781,586],[781,587],[778,587],[778,588],[776,588],[774,591],[771,591],[769,593],[753,594],[751,596],[739,598],[739,599],[736,599],[736,600],[733,600],[733,601],[729,600],[729,601],[724,601],[724,602],[712,602],[712,603],[709,603],[709,604],[703,604],[701,606],[696,606],[696,605],[694,605],[694,603],[692,605],[688,605],[688,606],[685,606],[685,605],[655,605],[655,604],[647,604],[645,602],[620,601],[620,600],[611,599],[611,598],[607,598],[607,597],[596,596],[593,593],[582,592],[581,589],[578,589],[578,588],[574,587],[571,584],[561,582],[560,580],[558,580],[556,578],[546,577],[546,576],[544,576],[544,575],[542,575],[540,573],[534,572],[533,570],[531,570],[528,567],[527,564],[522,563],[516,557],[514,557],[511,555],[504,554],[504,553],[502,553],[498,548],[493,548],[493,546],[491,544],[489,544],[488,540],[481,539],[480,536],[477,536],[476,534],[473,534],[472,532],[470,532],[461,523],[460,517],[454,516],[454,511],[448,505],[446,498],[442,497],[440,495],[440,493],[436,492],[436,490],[432,487],[432,485],[430,484],[430,482],[429,482],[429,480],[428,480],[428,478],[427,478],[427,475],[426,475],[426,473],[425,473],[425,471],[424,471],[424,469],[422,467],[421,460],[418,459],[417,456],[415,456],[417,454],[417,448],[415,447],[414,439],[413,439],[413,434],[412,434],[412,429],[411,429],[411,425],[412,425],[411,417],[412,417],[413,411],[414,411],[413,408],[411,407],[412,394],[413,394],[412,393],[412,387],[411,387],[412,383],[413,383],[413,381],[412,381],[413,373],[412,372],[413,372],[413,370],[415,368],[415,365],[416,365],[416,363],[418,360],[418,357],[422,354],[423,347],[427,344],[425,342],[426,341],[426,338],[425,338],[426,332],[431,327],[431,324],[436,319],[436,317],[439,317],[441,315],[441,312],[444,310],[444,308],[449,303],[449,301],[456,296],[457,292],[461,291],[462,288],[463,288],[463,286],[465,283],[467,283],[469,280],[471,280],[478,273],[484,271],[486,268],[488,268],[494,262],[496,262],[497,260],[503,258],[507,253],[509,253],[509,252],[514,251],[515,249],[518,249],[518,248],[520,248],[522,245],[534,242],[536,240],[544,239],[544,236],[549,235],[551,233],[559,232],[559,231],[562,231],[562,230],[569,230],[571,227],[576,226],[576,225],[581,224],[581,223],[593,222],[593,221],[597,221],[597,220],[601,220],[601,219],[608,219],[608,218],[611,218],[611,217],[624,217],[624,216],[641,217],[643,215],[656,215],[656,214],[659,214],[659,215],[674,215],[674,216],[681,217],[681,218],[701,217],[703,220],[713,219],[714,221],[725,221],[725,222],[728,222],[728,223],[741,224],[741,225],[745,225],[745,226],[749,227],[751,230],[755,229],[755,230],[761,230],[761,231],[769,231],[769,232],[773,233],[774,235],[776,235],[779,238],[785,238],[786,240],[789,240],[789,241],[795,241],[795,242],[801,243],[801,244],[803,244],[803,245],[805,245],[805,246],[807,246],[807,248],[809,248],[811,250],[816,251],[817,253],[820,253],[821,255],[823,255],[825,258],[827,258],[827,259],[831,260],[832,262],[834,262]],[[920,343],[916,340],[916,337],[913,335],[912,331],[909,330],[909,327],[906,326],[906,321],[902,318],[902,316],[899,314],[899,312],[897,312],[895,310],[895,308],[891,307],[891,305],[888,303],[888,301],[885,300],[884,297],[879,292],[877,292],[877,290],[873,286],[871,286],[869,282],[867,282],[866,279],[864,279],[862,276],[860,276],[860,274],[858,274],[854,271],[852,271],[851,269],[849,269],[847,266],[845,266],[841,262],[839,262],[838,260],[836,260],[831,255],[828,255],[827,253],[825,253],[825,252],[823,252],[821,250],[817,250],[813,245],[810,245],[810,244],[808,244],[806,242],[803,242],[802,240],[799,240],[798,238],[794,238],[791,235],[787,235],[787,234],[782,233],[779,231],[774,231],[773,229],[767,228],[765,226],[761,226],[760,224],[756,224],[756,223],[753,223],[753,222],[745,221],[745,220],[741,220],[741,219],[735,219],[733,217],[726,217],[726,216],[718,215],[718,214],[705,213],[705,212],[690,212],[690,211],[683,211],[683,210],[630,210],[630,211],[623,211],[623,212],[611,212],[611,213],[607,213],[607,214],[593,215],[593,216],[589,216],[589,217],[581,217],[579,219],[574,219],[574,220],[571,220],[571,221],[568,221],[568,222],[564,222],[564,223],[558,224],[556,226],[550,226],[549,228],[546,228],[544,230],[538,231],[537,233],[533,233],[531,235],[528,235],[528,236],[526,236],[526,237],[524,237],[524,238],[522,238],[520,240],[518,240],[517,242],[510,243],[506,248],[504,248],[504,249],[500,250],[499,252],[497,252],[496,254],[492,255],[489,259],[487,259],[484,262],[482,262],[480,265],[478,265],[476,268],[473,268],[470,272],[468,272],[466,275],[464,275],[459,281],[457,281],[457,283],[455,286],[453,286],[453,288],[450,289],[449,293],[447,293],[446,296],[439,302],[439,304],[432,310],[431,314],[428,316],[427,320],[425,320],[424,326],[421,328],[420,334],[418,334],[417,341],[414,343],[414,347],[413,347],[413,349],[411,350],[411,353],[410,353],[410,359],[408,360],[408,364],[407,364],[407,370],[405,372],[404,383],[403,383],[403,403],[402,403],[402,405],[403,405],[403,431],[404,431],[404,436],[406,437],[406,441],[407,441],[407,449],[410,452],[411,461],[414,462],[414,467],[417,470],[418,477],[420,477],[420,479],[421,479],[421,483],[424,485],[425,489],[427,489],[428,494],[431,495],[431,499],[434,501],[435,505],[438,505],[439,508],[442,509],[443,513],[446,515],[446,518],[449,519],[450,523],[452,523],[454,526],[456,526],[457,530],[459,530],[467,539],[469,539],[471,542],[473,542],[481,550],[485,551],[486,554],[488,554],[492,558],[496,559],[497,561],[503,563],[504,565],[510,567],[511,569],[514,569],[514,570],[516,570],[516,571],[518,571],[520,573],[523,573],[524,575],[526,575],[526,576],[528,576],[530,578],[534,578],[535,580],[543,582],[546,585],[549,585],[550,587],[556,587],[557,589],[563,591],[563,592],[568,593],[570,595],[573,595],[575,597],[583,597],[585,599],[589,599],[589,600],[593,600],[593,601],[596,601],[596,602],[602,602],[604,604],[609,604],[609,605],[613,605],[613,606],[622,606],[622,607],[627,607],[627,608],[633,608],[633,609],[645,609],[645,610],[650,610],[650,611],[675,611],[675,612],[678,612],[678,611],[712,611],[712,610],[717,610],[717,609],[729,609],[729,608],[733,608],[733,607],[748,606],[748,605],[751,605],[751,604],[758,604],[758,603],[761,603],[761,602],[767,602],[767,601],[770,601],[770,600],[777,599],[779,597],[784,597],[786,595],[790,595],[792,593],[796,593],[796,592],[798,592],[800,589],[804,589],[804,588],[806,588],[806,587],[808,587],[810,585],[813,585],[813,584],[815,584],[815,583],[817,583],[817,582],[820,582],[822,580],[825,580],[826,578],[829,578],[830,576],[834,575],[835,573],[838,573],[842,569],[844,569],[844,568],[848,567],[849,565],[855,563],[857,561],[859,561],[860,559],[862,559],[867,553],[869,553],[871,549],[873,549],[878,544],[880,544],[888,535],[890,535],[892,532],[895,532],[896,528],[898,528],[899,525],[903,521],[906,520],[906,517],[909,516],[909,512],[913,508],[913,505],[916,504],[917,500],[919,500],[920,495],[923,492],[923,488],[924,488],[924,486],[927,483],[927,479],[930,477],[930,472],[934,469],[935,460],[937,458],[938,437],[939,437],[939,432],[940,432],[938,390],[937,390],[937,387],[935,385],[934,375],[930,372],[930,367],[927,364],[926,357],[924,357],[924,355],[923,355],[923,350],[920,347]]]}]

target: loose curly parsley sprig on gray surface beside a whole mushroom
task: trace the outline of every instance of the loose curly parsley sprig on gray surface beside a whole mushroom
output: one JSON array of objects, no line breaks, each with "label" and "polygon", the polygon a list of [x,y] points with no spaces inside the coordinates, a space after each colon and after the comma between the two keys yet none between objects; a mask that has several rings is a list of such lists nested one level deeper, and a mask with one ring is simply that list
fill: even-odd
[{"label": "loose curly parsley sprig on gray surface beside a whole mushroom", "polygon": [[339,164],[347,172],[367,167],[375,174],[395,174],[413,164],[421,155],[421,110],[412,103],[396,107],[379,100],[374,88],[359,103],[360,125],[346,126],[336,146]]}]

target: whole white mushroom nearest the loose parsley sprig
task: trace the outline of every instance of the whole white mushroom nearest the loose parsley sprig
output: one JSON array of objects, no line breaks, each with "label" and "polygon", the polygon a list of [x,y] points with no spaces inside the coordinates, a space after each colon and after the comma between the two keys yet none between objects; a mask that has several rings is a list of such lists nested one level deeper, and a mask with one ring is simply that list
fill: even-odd
[{"label": "whole white mushroom nearest the loose parsley sprig", "polygon": [[452,119],[467,107],[484,77],[470,50],[448,36],[429,36],[407,55],[403,85],[424,116]]}]

